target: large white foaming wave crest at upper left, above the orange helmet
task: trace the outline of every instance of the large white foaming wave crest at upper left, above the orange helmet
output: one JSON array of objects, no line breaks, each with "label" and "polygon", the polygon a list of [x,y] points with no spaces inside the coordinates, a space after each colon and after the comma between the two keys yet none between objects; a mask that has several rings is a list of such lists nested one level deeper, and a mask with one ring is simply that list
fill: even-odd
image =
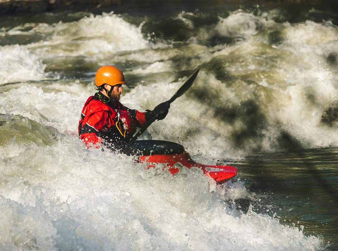
[{"label": "large white foaming wave crest at upper left, above the orange helmet", "polygon": [[141,25],[130,24],[113,12],[84,16],[76,22],[60,21],[51,27],[50,38],[29,45],[44,57],[80,55],[97,60],[119,51],[149,47],[141,33]]}]

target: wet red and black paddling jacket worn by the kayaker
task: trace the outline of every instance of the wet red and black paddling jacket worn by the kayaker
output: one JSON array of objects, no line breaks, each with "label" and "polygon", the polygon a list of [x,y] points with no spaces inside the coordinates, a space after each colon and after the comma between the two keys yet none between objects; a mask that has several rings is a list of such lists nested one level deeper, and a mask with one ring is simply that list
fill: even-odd
[{"label": "wet red and black paddling jacket worn by the kayaker", "polygon": [[99,92],[88,98],[81,112],[79,138],[87,145],[125,152],[128,140],[135,133],[136,126],[146,124],[145,112],[132,110],[119,101],[112,103]]}]

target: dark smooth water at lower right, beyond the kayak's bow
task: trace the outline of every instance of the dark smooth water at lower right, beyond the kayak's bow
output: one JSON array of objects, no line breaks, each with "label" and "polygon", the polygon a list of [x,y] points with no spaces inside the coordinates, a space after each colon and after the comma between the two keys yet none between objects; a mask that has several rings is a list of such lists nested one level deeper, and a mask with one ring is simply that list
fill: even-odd
[{"label": "dark smooth water at lower right, beyond the kayak's bow", "polygon": [[306,234],[322,236],[327,250],[337,250],[337,148],[311,149],[249,157],[234,163],[255,200],[236,206],[278,217]]}]

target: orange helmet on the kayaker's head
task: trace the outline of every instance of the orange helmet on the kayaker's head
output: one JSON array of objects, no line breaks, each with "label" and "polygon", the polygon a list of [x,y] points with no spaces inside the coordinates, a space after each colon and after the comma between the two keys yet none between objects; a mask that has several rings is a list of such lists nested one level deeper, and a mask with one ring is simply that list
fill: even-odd
[{"label": "orange helmet on the kayaker's head", "polygon": [[126,83],[127,82],[124,81],[122,71],[120,71],[115,66],[105,65],[96,71],[95,84],[97,86],[101,86],[103,84],[114,86]]}]

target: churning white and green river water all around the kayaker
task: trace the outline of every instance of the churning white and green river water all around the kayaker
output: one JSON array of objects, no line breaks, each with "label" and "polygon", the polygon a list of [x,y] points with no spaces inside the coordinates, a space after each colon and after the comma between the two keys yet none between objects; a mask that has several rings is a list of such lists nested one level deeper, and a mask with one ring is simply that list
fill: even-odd
[{"label": "churning white and green river water all around the kayaker", "polygon": [[[330,2],[122,2],[0,17],[0,250],[337,250],[338,18]],[[333,4],[333,2],[332,2]],[[86,149],[96,70],[144,138],[238,167],[224,186]]]}]

